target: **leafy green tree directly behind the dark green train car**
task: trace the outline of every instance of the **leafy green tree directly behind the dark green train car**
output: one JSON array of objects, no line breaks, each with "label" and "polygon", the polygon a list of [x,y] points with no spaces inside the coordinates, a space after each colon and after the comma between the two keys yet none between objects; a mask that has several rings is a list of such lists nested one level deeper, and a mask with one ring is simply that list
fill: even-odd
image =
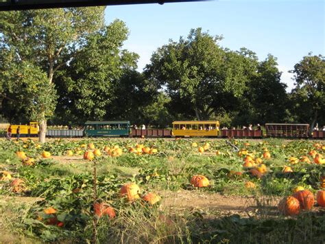
[{"label": "leafy green tree directly behind the dark green train car", "polygon": [[154,91],[136,71],[139,55],[121,49],[127,38],[128,28],[118,20],[86,37],[87,45],[58,72],[60,121],[139,118]]}]

